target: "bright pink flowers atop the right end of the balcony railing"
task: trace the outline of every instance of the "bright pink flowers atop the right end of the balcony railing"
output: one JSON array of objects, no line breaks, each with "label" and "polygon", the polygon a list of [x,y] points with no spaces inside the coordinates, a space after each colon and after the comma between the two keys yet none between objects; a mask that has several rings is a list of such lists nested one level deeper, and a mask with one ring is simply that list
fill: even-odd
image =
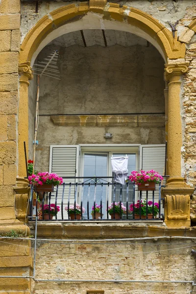
[{"label": "bright pink flowers atop the right end of the balcony railing", "polygon": [[160,180],[163,180],[163,177],[156,171],[150,170],[150,171],[140,171],[136,172],[133,171],[131,172],[131,175],[129,175],[129,180],[131,182],[135,182],[136,185],[141,185],[142,183],[145,182],[155,182],[158,184]]}]

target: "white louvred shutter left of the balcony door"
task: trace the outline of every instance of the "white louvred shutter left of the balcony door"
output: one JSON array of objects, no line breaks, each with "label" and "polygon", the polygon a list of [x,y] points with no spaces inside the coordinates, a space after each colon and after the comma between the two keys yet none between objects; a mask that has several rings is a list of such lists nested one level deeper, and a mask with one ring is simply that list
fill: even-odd
[{"label": "white louvred shutter left of the balcony door", "polygon": [[[49,171],[53,173],[57,173],[59,176],[63,178],[63,182],[67,183],[75,183],[74,178],[69,177],[77,177],[79,170],[79,146],[78,145],[70,145],[70,146],[50,146],[50,168]],[[66,177],[66,178],[65,178]],[[67,178],[68,177],[68,178]],[[55,203],[55,192],[52,193],[51,203]],[[57,197],[57,205],[60,206],[61,210],[61,199],[62,199],[63,185],[58,187],[58,197]],[[73,204],[74,201],[74,186],[71,189],[71,198],[70,204]],[[68,203],[68,195],[69,195],[69,186],[65,186],[64,190],[64,201],[63,201],[63,213],[64,219],[67,218],[67,213],[64,210],[65,206]],[[57,215],[58,219],[61,219],[61,211]]]}]

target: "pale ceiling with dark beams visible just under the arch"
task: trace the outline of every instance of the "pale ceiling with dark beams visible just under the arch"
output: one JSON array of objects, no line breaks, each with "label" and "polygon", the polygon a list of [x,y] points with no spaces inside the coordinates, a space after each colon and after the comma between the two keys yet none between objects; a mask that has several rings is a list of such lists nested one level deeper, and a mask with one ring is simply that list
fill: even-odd
[{"label": "pale ceiling with dark beams visible just under the arch", "polygon": [[149,46],[146,39],[135,34],[119,31],[119,30],[101,30],[101,29],[84,29],[61,35],[52,40],[48,45],[56,45],[60,47],[70,47],[79,45],[83,47],[91,47],[99,45],[102,47],[110,47],[114,45],[130,47],[135,45]]}]

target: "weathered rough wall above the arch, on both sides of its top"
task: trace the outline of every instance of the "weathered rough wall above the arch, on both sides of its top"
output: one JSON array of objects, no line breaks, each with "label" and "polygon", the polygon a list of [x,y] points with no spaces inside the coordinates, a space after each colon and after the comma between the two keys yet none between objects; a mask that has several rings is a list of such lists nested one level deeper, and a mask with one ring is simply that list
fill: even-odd
[{"label": "weathered rough wall above the arch, on both sides of its top", "polygon": [[[114,3],[119,3],[121,5],[127,5],[131,7],[138,8],[154,18],[158,19],[163,25],[171,30],[169,22],[175,23],[176,20],[180,20],[179,25],[177,25],[180,31],[184,25],[189,25],[196,14],[196,1],[195,0],[183,0],[183,1],[172,1],[172,0],[162,0],[162,1],[149,1],[149,0],[132,0],[132,1],[111,1]],[[48,14],[54,9],[59,7],[69,5],[70,3],[77,3],[77,1],[43,1],[39,2],[38,12],[35,12],[34,2],[22,2],[22,19],[21,19],[21,31],[22,40],[25,38],[26,33],[29,29],[37,23],[44,15]]]}]

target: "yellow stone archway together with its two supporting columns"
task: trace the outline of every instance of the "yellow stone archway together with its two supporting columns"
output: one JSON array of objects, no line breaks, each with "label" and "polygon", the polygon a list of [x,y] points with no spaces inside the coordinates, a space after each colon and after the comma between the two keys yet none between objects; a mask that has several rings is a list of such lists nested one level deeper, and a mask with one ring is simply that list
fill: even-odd
[{"label": "yellow stone archway together with its two supporting columns", "polygon": [[[78,30],[78,26],[82,25],[82,20],[87,15],[94,14],[98,18],[99,26],[107,26],[110,23],[118,25],[118,29],[130,31],[136,35],[146,38],[156,47],[162,54],[166,64],[165,79],[169,82],[168,91],[168,174],[170,179],[167,183],[165,197],[169,195],[191,194],[192,190],[185,184],[181,175],[181,146],[182,146],[182,122],[180,114],[180,86],[181,75],[188,71],[188,64],[183,61],[185,57],[185,44],[177,41],[177,37],[173,38],[172,32],[164,25],[154,19],[147,13],[136,8],[107,2],[106,0],[90,0],[89,2],[81,2],[77,5],[70,4],[58,8],[45,15],[34,25],[27,33],[20,52],[20,103],[19,103],[19,119],[18,119],[18,157],[19,168],[18,175],[25,176],[25,158],[23,150],[23,142],[28,142],[28,80],[32,78],[30,67],[31,61],[36,58],[38,53],[54,38],[69,32],[66,29]],[[85,22],[84,22],[85,23]],[[76,24],[76,25],[75,25]],[[102,27],[102,28],[103,28]],[[108,26],[109,27],[109,26]],[[116,26],[117,27],[117,26]],[[90,27],[98,28],[93,23]],[[71,31],[71,30],[70,30]],[[173,111],[175,110],[175,114]],[[186,190],[186,192],[184,191]],[[187,197],[187,201],[188,201]],[[170,199],[167,199],[167,203]],[[174,205],[175,206],[175,205]],[[174,207],[175,208],[175,207]],[[174,209],[175,211],[175,209]],[[188,217],[180,223],[190,225],[189,212],[183,212]],[[176,219],[175,213],[172,211],[170,221]],[[173,215],[174,214],[174,215]]]}]

